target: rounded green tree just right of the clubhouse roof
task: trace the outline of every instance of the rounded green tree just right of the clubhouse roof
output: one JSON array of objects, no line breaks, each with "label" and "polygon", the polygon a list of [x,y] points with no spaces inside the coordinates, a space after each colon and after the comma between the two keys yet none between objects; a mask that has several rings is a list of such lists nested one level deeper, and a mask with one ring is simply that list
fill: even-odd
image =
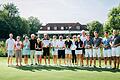
[{"label": "rounded green tree just right of the clubhouse roof", "polygon": [[88,23],[87,28],[88,28],[91,36],[94,36],[93,35],[94,31],[97,31],[99,33],[99,35],[102,36],[103,25],[99,21],[92,21],[92,22]]}]

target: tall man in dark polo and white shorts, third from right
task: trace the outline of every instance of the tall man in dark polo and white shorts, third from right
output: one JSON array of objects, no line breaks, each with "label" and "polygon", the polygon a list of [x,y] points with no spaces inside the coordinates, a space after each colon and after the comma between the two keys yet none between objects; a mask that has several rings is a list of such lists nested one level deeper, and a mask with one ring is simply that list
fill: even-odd
[{"label": "tall man in dark polo and white shorts, third from right", "polygon": [[94,38],[93,38],[93,58],[94,58],[94,67],[96,68],[96,57],[98,57],[99,67],[101,67],[101,53],[100,47],[102,44],[102,39],[99,38],[98,32],[94,31]]}]

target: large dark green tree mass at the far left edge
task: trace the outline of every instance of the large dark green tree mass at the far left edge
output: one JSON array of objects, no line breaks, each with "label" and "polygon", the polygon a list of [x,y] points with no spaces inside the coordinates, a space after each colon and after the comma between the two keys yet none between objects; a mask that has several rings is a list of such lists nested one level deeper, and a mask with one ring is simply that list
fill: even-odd
[{"label": "large dark green tree mass at the far left edge", "polygon": [[0,38],[8,38],[9,33],[13,33],[14,37],[29,34],[28,21],[18,13],[18,8],[14,4],[3,5],[3,10],[0,10]]}]

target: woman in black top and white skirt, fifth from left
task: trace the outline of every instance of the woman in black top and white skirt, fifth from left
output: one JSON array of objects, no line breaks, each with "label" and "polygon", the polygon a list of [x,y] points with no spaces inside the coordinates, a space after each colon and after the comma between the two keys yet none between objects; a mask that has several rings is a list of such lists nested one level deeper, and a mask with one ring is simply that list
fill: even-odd
[{"label": "woman in black top and white skirt, fifth from left", "polygon": [[40,40],[40,38],[37,38],[37,43],[35,45],[35,48],[36,48],[36,51],[35,51],[35,57],[37,59],[37,62],[38,64],[41,65],[42,63],[42,41]]}]

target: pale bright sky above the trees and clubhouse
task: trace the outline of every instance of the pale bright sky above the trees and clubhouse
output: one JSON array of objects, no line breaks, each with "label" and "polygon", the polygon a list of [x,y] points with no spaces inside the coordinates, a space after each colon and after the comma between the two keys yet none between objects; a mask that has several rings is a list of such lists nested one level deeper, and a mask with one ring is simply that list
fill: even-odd
[{"label": "pale bright sky above the trees and clubhouse", "polygon": [[34,16],[43,24],[104,23],[110,9],[120,4],[120,0],[0,0],[0,4],[8,2],[19,8],[22,17]]}]

